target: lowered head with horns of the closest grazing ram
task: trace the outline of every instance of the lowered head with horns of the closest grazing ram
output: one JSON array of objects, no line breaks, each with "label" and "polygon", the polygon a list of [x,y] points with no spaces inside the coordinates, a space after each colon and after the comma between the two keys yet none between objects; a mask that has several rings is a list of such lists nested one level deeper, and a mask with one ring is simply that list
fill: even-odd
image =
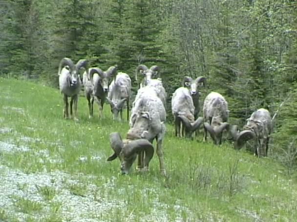
[{"label": "lowered head with horns of the closest grazing ram", "polygon": [[146,139],[127,139],[123,141],[118,132],[112,132],[109,135],[109,140],[114,153],[108,157],[107,161],[112,161],[119,157],[122,174],[127,174],[129,172],[137,154],[141,151],[145,151],[145,166],[148,166],[148,163],[154,154],[152,144]]}]

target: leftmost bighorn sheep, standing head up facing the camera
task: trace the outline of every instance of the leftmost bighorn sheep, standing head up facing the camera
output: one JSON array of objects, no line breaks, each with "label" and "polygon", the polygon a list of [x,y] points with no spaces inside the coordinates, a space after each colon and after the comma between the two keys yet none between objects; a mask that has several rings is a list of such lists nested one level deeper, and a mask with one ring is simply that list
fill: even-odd
[{"label": "leftmost bighorn sheep, standing head up facing the camera", "polygon": [[82,88],[82,81],[79,75],[80,69],[84,67],[86,72],[88,72],[88,62],[85,59],[79,60],[76,65],[72,62],[70,58],[62,58],[59,64],[59,86],[60,91],[63,94],[64,100],[64,118],[68,118],[68,96],[71,97],[70,100],[70,116],[72,117],[72,109],[74,111],[73,119],[77,118],[77,102],[79,93]]}]

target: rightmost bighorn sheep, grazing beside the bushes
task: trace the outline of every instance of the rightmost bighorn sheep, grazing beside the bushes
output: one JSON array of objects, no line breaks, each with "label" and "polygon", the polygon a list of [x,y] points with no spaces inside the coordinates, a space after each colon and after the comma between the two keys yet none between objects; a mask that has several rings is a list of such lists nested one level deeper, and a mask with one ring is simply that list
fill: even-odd
[{"label": "rightmost bighorn sheep, grazing beside the bushes", "polygon": [[255,140],[255,155],[267,156],[270,134],[272,132],[272,119],[266,109],[259,109],[247,119],[244,130],[239,132],[237,126],[232,126],[230,132],[234,140],[234,148],[241,148],[247,140]]}]

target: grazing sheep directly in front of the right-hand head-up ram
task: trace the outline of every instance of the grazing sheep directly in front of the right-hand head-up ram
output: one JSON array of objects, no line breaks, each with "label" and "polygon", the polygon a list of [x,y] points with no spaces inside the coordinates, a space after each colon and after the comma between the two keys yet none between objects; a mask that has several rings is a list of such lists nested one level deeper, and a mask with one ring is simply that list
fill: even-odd
[{"label": "grazing sheep directly in front of the right-hand head-up ram", "polygon": [[203,123],[202,117],[194,121],[193,100],[189,90],[185,87],[180,87],[173,93],[171,98],[171,110],[174,116],[175,136],[181,136],[181,123],[183,123],[182,130],[185,130],[186,137],[191,137],[192,133]]}]

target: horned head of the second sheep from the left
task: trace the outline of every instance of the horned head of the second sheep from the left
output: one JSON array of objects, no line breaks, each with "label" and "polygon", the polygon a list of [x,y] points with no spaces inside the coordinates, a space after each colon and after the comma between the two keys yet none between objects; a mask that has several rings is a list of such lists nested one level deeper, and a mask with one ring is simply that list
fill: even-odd
[{"label": "horned head of the second sheep from the left", "polygon": [[[100,85],[103,88],[104,92],[108,92],[108,79],[115,76],[117,73],[117,67],[116,66],[111,66],[108,68],[108,70],[106,70],[106,72],[103,72],[101,69],[99,68],[92,68],[89,71],[88,74],[88,78],[93,82],[93,76],[94,74],[98,74],[100,77]],[[93,83],[94,84],[94,83]]]}]

